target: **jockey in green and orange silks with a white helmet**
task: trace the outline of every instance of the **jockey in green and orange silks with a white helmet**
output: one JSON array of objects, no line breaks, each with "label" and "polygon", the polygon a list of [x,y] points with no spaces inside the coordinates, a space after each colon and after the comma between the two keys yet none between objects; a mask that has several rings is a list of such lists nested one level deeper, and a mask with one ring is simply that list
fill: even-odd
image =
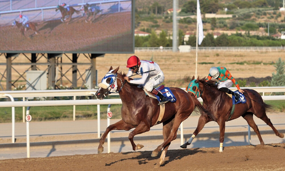
[{"label": "jockey in green and orange silks with a white helmet", "polygon": [[231,75],[229,70],[227,70],[227,68],[225,68],[223,66],[210,68],[209,75],[208,75],[208,77],[206,79],[206,82],[211,80],[211,78],[215,78],[216,80],[218,80],[217,88],[220,91],[224,91],[224,92],[226,92],[228,94],[232,94],[233,96],[235,96],[235,100],[236,101],[239,100],[239,94],[231,91],[229,88],[233,84],[235,84],[235,86],[237,87],[238,91],[240,93],[244,93],[244,91],[239,87],[239,84],[237,83],[235,78],[233,78],[233,76]]}]

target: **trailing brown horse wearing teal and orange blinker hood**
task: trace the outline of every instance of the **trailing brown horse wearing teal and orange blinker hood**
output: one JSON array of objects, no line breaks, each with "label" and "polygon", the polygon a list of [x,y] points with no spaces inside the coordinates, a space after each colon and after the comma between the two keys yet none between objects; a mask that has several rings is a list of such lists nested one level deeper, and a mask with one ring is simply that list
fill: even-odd
[{"label": "trailing brown horse wearing teal and orange blinker hood", "polygon": [[[192,137],[182,146],[181,148],[186,148],[187,145],[191,144],[192,140],[198,135],[198,133],[203,129],[206,123],[210,121],[215,121],[220,127],[220,149],[219,152],[223,152],[223,142],[225,135],[225,122],[231,121],[242,116],[250,127],[253,128],[261,145],[264,142],[259,133],[258,127],[253,120],[253,115],[262,119],[267,125],[269,125],[274,131],[275,135],[283,138],[284,135],[279,133],[270,119],[266,116],[266,111],[272,111],[272,105],[268,105],[263,102],[261,95],[253,89],[243,89],[245,92],[246,103],[238,103],[233,107],[232,99],[227,95],[227,93],[219,91],[217,85],[214,81],[205,81],[205,78],[199,80],[192,78],[189,86],[186,87],[188,93],[201,97],[203,99],[203,107],[213,113],[214,118],[210,118],[205,114],[201,114],[198,126],[194,131]],[[232,112],[232,108],[234,111]]]}]

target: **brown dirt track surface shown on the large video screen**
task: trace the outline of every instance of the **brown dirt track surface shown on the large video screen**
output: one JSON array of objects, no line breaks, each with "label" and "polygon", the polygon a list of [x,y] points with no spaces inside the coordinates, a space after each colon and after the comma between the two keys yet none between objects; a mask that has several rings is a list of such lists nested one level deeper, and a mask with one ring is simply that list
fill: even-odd
[{"label": "brown dirt track surface shown on the large video screen", "polygon": [[[0,27],[0,47],[3,51],[19,52],[128,52],[133,46],[131,12],[100,14],[93,23],[86,17],[38,22],[35,34],[27,29],[23,36],[16,26]],[[11,23],[12,25],[12,23]],[[114,29],[116,28],[116,29]],[[118,43],[120,40],[123,43]]]}]

